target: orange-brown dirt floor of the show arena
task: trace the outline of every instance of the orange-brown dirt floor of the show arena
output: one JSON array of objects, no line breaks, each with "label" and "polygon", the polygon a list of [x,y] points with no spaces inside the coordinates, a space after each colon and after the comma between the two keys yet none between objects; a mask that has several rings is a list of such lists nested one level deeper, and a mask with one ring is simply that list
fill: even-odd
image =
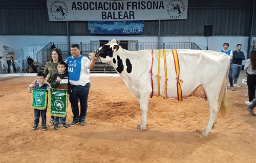
[{"label": "orange-brown dirt floor of the show arena", "polygon": [[[31,130],[27,90],[34,79],[0,78],[0,162],[256,162],[256,117],[245,109],[247,85],[228,89],[226,117],[218,116],[211,134],[202,137],[208,104],[197,97],[153,97],[147,130],[138,132],[139,100],[121,77],[91,77],[86,126],[43,131],[39,124]],[[72,116],[69,103],[67,123]],[[47,117],[49,122],[49,111]]]}]

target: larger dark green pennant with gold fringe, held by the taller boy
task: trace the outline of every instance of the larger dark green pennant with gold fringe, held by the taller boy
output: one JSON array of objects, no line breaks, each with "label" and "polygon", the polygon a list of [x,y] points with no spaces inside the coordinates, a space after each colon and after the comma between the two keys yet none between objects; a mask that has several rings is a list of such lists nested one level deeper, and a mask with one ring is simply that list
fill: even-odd
[{"label": "larger dark green pennant with gold fringe, held by the taller boy", "polygon": [[68,107],[68,93],[65,89],[50,89],[50,114],[55,117],[65,117]]}]

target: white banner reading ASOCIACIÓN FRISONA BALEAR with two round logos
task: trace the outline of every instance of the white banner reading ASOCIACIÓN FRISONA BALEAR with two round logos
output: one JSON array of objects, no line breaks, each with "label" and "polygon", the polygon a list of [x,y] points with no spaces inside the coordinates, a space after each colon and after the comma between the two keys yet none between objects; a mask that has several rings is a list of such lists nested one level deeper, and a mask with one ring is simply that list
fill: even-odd
[{"label": "white banner reading ASOCIACI\u00d3N FRISONA BALEAR with two round logos", "polygon": [[188,0],[47,0],[50,21],[172,20],[187,18]]}]

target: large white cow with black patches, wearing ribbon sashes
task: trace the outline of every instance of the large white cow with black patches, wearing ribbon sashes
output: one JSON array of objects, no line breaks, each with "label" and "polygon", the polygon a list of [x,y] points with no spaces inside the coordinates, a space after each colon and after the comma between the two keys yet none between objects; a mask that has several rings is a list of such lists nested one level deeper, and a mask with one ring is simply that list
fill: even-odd
[{"label": "large white cow with black patches, wearing ribbon sashes", "polygon": [[[100,62],[112,65],[134,97],[140,99],[142,117],[137,126],[138,131],[144,131],[146,128],[148,99],[151,94],[177,99],[177,82],[180,82],[182,97],[186,98],[202,86],[209,104],[209,121],[202,133],[207,137],[216,123],[219,110],[222,115],[225,115],[227,110],[230,58],[224,53],[211,50],[176,51],[179,59],[179,78],[171,49],[128,51],[119,47],[116,40],[112,40],[90,53],[89,57],[98,55]],[[225,93],[220,107],[221,90],[225,90]]]}]

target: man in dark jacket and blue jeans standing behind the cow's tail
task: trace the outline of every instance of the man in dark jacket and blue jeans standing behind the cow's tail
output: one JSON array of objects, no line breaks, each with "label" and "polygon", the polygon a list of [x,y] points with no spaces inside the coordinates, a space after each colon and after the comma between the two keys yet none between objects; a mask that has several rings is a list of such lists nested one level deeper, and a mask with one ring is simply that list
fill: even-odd
[{"label": "man in dark jacket and blue jeans standing behind the cow's tail", "polygon": [[230,82],[231,90],[234,91],[233,87],[241,87],[238,83],[238,77],[240,71],[242,69],[242,61],[245,60],[244,52],[241,51],[242,44],[237,45],[237,49],[233,51],[233,59],[232,59],[232,82]]}]

